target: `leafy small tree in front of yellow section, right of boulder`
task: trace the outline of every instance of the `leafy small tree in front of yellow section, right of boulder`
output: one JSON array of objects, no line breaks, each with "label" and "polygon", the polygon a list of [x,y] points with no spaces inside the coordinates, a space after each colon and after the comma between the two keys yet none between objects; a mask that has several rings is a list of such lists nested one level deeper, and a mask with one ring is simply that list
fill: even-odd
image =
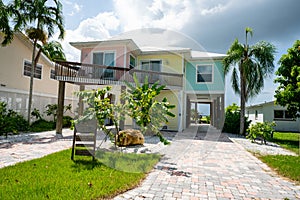
[{"label": "leafy small tree in front of yellow section, right of boulder", "polygon": [[127,83],[129,90],[124,96],[127,102],[127,114],[140,126],[143,134],[147,130],[152,131],[160,138],[161,142],[168,144],[169,142],[160,133],[160,128],[168,122],[168,117],[175,117],[171,113],[171,109],[175,108],[175,105],[171,105],[167,98],[162,101],[156,99],[165,88],[164,85],[159,86],[158,82],[150,85],[148,77],[145,78],[144,84],[140,85],[136,74],[133,77],[135,85]]}]

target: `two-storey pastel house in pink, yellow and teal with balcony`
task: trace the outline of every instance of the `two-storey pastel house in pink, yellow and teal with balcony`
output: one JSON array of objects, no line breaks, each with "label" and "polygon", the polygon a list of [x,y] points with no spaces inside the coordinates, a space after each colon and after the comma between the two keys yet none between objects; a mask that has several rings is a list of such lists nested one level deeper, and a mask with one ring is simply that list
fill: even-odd
[{"label": "two-storey pastel house in pink, yellow and teal with balcony", "polygon": [[[70,77],[58,74],[57,80],[86,85],[113,85],[113,101],[118,101],[120,91],[124,88],[121,82],[132,79],[125,73],[131,69],[140,82],[148,76],[150,83],[160,81],[166,85],[158,98],[167,97],[171,104],[176,105],[172,110],[176,117],[165,126],[168,130],[181,131],[190,125],[192,103],[210,104],[211,124],[221,128],[225,93],[222,59],[225,55],[187,48],[143,48],[131,39],[70,44],[81,51],[81,63],[72,68],[65,65],[66,71],[73,70]],[[93,64],[111,68],[99,69]],[[57,68],[58,71],[62,69]],[[125,125],[132,124],[132,120],[125,122]]]}]

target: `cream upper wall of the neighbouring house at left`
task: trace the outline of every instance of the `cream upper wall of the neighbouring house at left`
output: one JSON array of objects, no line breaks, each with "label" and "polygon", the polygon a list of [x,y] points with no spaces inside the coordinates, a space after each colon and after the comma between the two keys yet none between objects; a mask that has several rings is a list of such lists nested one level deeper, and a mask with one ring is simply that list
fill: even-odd
[{"label": "cream upper wall of the neighbouring house at left", "polygon": [[[29,49],[18,37],[14,37],[13,42],[6,46],[0,47],[0,84],[10,89],[28,91],[30,77],[23,75],[24,61],[31,62],[31,49]],[[39,59],[39,64],[42,67],[42,79],[34,79],[34,93],[42,93],[57,96],[58,81],[50,79],[51,69],[54,69],[54,64],[50,65],[44,59]],[[67,84],[66,97],[71,98],[74,90],[78,87]]]}]

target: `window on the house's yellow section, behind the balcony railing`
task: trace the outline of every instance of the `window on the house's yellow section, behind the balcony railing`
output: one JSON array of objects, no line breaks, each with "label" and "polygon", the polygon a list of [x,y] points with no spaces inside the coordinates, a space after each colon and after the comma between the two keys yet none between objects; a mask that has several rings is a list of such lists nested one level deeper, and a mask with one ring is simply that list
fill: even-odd
[{"label": "window on the house's yellow section, behind the balcony railing", "polygon": [[[160,72],[161,71],[161,60],[148,60],[148,61],[141,61],[141,69],[147,70],[147,71],[155,71]],[[145,79],[145,76],[147,74],[142,74],[142,80]],[[159,74],[149,74],[148,75],[149,82],[156,82],[159,80]]]}]

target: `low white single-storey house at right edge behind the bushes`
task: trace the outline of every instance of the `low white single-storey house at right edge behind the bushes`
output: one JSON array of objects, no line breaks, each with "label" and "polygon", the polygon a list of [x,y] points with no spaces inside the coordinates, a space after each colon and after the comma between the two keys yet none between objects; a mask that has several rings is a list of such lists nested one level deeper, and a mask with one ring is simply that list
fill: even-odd
[{"label": "low white single-storey house at right edge behind the bushes", "polygon": [[251,123],[275,122],[276,131],[300,132],[300,118],[293,119],[286,107],[276,105],[274,101],[246,107],[246,116]]}]

